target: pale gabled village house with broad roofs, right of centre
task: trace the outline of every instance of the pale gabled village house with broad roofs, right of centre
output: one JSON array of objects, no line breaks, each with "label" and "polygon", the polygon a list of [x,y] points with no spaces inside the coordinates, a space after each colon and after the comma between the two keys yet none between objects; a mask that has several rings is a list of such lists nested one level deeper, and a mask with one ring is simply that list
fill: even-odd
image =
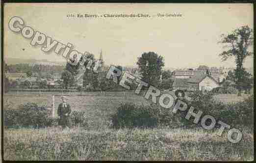
[{"label": "pale gabled village house with broad roofs, right of centre", "polygon": [[174,72],[173,89],[181,90],[212,90],[219,87],[219,82],[216,81],[210,74],[206,74],[204,71],[175,71]]}]

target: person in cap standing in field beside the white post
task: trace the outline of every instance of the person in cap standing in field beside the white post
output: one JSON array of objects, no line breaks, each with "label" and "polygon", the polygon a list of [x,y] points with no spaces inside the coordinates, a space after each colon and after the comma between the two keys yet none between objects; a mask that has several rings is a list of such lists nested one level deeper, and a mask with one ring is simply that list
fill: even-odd
[{"label": "person in cap standing in field beside the white post", "polygon": [[69,116],[71,113],[70,105],[67,104],[67,97],[61,97],[62,103],[58,107],[58,125],[62,128],[70,127]]}]

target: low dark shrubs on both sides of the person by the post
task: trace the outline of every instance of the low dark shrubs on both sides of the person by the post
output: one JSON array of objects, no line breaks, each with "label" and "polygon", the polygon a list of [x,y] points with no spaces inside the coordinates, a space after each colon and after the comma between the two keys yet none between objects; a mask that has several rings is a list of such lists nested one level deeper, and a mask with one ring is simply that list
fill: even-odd
[{"label": "low dark shrubs on both sides of the person by the post", "polygon": [[[70,115],[71,125],[86,127],[84,114],[83,111],[72,111]],[[4,127],[6,128],[44,128],[55,125],[57,125],[57,119],[52,118],[51,110],[46,109],[45,105],[25,103],[20,105],[18,109],[4,110]]]}]

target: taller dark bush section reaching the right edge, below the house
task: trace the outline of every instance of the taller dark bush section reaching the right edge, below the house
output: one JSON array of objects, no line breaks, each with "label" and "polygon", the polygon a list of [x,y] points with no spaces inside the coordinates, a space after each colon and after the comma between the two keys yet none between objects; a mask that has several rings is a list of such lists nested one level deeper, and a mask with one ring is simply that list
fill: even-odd
[{"label": "taller dark bush section reaching the right edge, below the house", "polygon": [[[234,128],[249,127],[253,128],[253,114],[254,114],[254,97],[251,95],[249,98],[242,102],[224,104],[223,102],[217,101],[213,98],[213,94],[208,92],[206,94],[200,92],[194,92],[190,94],[192,98],[190,106],[193,106],[196,110],[203,111],[203,114],[199,120],[201,121],[204,115],[211,115],[218,120],[229,124]],[[201,126],[200,123],[195,125],[192,123],[192,119],[186,120],[185,114],[187,111],[183,111],[182,122],[185,126],[195,127]],[[207,123],[206,123],[207,124]]]}]

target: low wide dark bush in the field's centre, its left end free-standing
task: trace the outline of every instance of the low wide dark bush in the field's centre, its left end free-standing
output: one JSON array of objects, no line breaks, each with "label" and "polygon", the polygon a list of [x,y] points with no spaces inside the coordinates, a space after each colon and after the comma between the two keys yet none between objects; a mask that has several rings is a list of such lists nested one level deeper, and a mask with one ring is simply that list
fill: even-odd
[{"label": "low wide dark bush in the field's centre, its left end free-standing", "polygon": [[152,128],[156,126],[175,126],[177,118],[170,109],[159,107],[155,104],[150,106],[136,106],[132,103],[121,104],[111,120],[114,128]]}]

